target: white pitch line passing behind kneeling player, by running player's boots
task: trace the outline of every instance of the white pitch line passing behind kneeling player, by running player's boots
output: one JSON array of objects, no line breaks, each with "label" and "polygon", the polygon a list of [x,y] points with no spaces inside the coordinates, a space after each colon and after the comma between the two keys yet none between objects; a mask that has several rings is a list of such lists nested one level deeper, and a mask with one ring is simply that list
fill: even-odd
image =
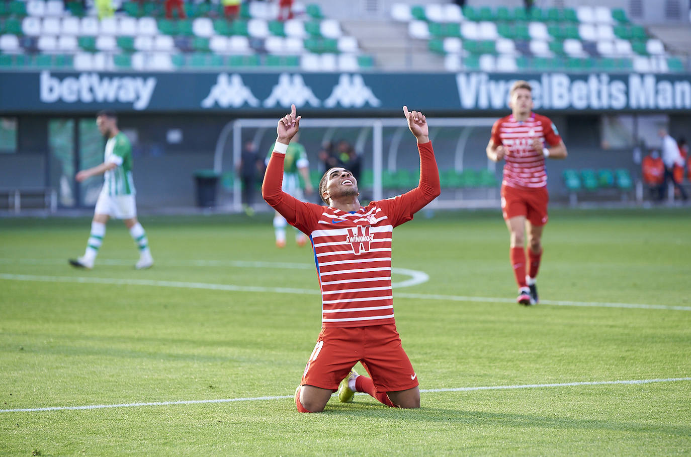
[{"label": "white pitch line passing behind kneeling player, by running player's boots", "polygon": [[[392,269],[396,270],[396,269]],[[401,268],[401,270],[404,270]],[[414,271],[414,270],[408,270]],[[425,275],[426,276],[426,275]],[[10,274],[0,273],[0,280],[7,281],[39,281],[39,282],[64,282],[64,283],[96,283],[96,284],[115,284],[117,286],[153,286],[153,287],[171,287],[171,288],[188,288],[188,289],[205,289],[205,290],[225,290],[230,292],[276,292],[282,294],[298,294],[298,295],[319,295],[319,290],[315,289],[297,289],[297,288],[280,288],[280,287],[263,287],[263,286],[234,286],[233,284],[214,284],[214,283],[192,283],[184,281],[157,281],[153,279],[115,279],[115,278],[97,278],[97,277],[72,277],[72,276],[43,276],[35,274]],[[419,277],[422,279],[422,276]],[[412,286],[412,282],[416,279],[409,279],[402,283],[393,284],[394,287]],[[415,294],[408,292],[397,292],[396,298],[408,299],[425,299],[425,300],[442,300],[442,301],[473,301],[480,303],[514,303],[513,299],[498,298],[498,297],[465,297],[462,295],[438,295],[438,294]],[[600,301],[553,301],[540,300],[540,304],[553,306],[588,306],[599,308],[637,308],[637,309],[651,309],[651,310],[677,310],[677,311],[691,311],[691,306],[672,306],[672,305],[650,305],[650,304],[635,304],[635,303],[606,303]]]}]

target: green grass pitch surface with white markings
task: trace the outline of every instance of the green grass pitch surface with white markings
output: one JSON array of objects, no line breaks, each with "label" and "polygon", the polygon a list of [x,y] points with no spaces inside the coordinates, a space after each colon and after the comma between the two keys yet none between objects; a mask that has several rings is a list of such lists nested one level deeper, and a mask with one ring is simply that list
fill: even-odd
[{"label": "green grass pitch surface with white markings", "polygon": [[[690,455],[691,380],[668,380],[691,377],[689,210],[550,216],[531,308],[499,212],[398,227],[393,266],[429,277],[394,290],[422,408],[357,394],[319,414],[292,400],[320,327],[313,256],[276,249],[269,214],[143,217],[145,271],[120,221],[78,271],[88,219],[0,219],[0,454]],[[526,387],[616,380],[668,381]],[[483,386],[518,388],[449,390]]]}]

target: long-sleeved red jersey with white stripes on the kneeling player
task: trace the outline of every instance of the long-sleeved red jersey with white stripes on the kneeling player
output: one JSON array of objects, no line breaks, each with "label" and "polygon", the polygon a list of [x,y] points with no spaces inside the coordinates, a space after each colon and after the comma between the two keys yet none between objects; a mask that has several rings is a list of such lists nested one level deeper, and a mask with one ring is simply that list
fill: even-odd
[{"label": "long-sleeved red jersey with white stripes on the kneeling player", "polygon": [[[310,236],[322,294],[323,327],[393,324],[393,227],[439,195],[439,172],[430,143],[420,144],[420,183],[406,194],[357,212],[305,203],[281,192],[282,154],[273,153],[262,192],[288,223]],[[279,165],[279,162],[280,165]]]}]

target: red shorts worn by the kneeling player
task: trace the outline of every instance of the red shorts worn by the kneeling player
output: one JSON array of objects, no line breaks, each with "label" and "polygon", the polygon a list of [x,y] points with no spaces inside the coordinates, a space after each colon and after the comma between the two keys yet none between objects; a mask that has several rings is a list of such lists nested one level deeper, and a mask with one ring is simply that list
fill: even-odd
[{"label": "red shorts worn by the kneeling player", "polygon": [[335,391],[357,362],[372,377],[377,391],[405,391],[418,385],[395,324],[322,328],[301,384]]}]

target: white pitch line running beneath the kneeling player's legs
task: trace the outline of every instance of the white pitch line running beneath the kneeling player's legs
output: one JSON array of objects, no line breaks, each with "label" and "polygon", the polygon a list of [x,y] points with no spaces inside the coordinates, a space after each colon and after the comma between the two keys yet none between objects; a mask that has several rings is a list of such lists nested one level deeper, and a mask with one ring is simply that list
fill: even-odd
[{"label": "white pitch line running beneath the kneeling player's legs", "polygon": [[[478,386],[478,387],[456,387],[452,389],[420,389],[421,393],[439,392],[465,392],[465,391],[493,391],[507,389],[547,389],[551,387],[573,387],[573,386],[604,386],[610,384],[651,384],[653,382],[679,382],[691,381],[691,377],[668,377],[654,380],[627,380],[627,381],[584,381],[584,382],[562,382],[558,384],[518,384],[513,386]],[[334,394],[335,395],[335,394]],[[216,400],[180,400],[177,402],[146,402],[146,403],[118,403],[118,404],[89,404],[78,407],[47,407],[47,408],[17,408],[0,409],[0,413],[23,413],[38,411],[63,411],[75,409],[104,409],[104,408],[131,408],[131,407],[164,407],[173,404],[200,404],[200,403],[230,403],[230,402],[255,402],[262,400],[283,400],[293,398],[293,395],[275,395],[270,397],[248,397],[248,398],[219,398]]]}]

